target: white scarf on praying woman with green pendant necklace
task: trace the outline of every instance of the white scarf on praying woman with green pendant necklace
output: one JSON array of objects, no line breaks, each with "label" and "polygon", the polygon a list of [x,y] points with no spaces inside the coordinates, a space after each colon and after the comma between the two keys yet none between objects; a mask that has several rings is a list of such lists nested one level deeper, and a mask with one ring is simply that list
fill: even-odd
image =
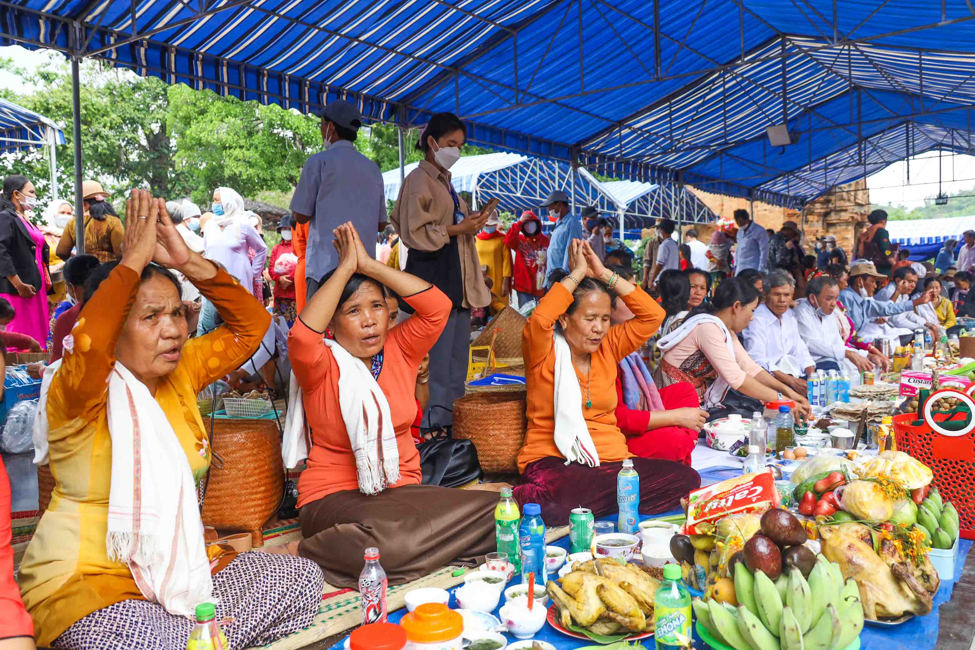
[{"label": "white scarf on praying woman with green pendant necklace", "polygon": [[579,463],[589,467],[600,466],[600,454],[596,450],[586,418],[582,414],[582,390],[578,375],[572,366],[572,353],[565,336],[554,336],[555,345],[555,445],[565,456],[565,465]]}]

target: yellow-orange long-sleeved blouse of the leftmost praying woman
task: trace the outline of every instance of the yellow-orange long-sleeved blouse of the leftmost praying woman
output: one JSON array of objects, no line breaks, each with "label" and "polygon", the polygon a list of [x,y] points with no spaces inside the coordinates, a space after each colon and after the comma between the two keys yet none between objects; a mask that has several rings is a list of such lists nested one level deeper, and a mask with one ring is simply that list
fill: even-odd
[{"label": "yellow-orange long-sleeved blouse of the leftmost praying woman", "polygon": [[[109,560],[105,550],[112,463],[107,379],[138,284],[138,274],[126,266],[116,267],[102,282],[81,310],[71,330],[73,352],[65,346],[51,382],[48,440],[55,488],[18,578],[39,646],[50,646],[98,609],[142,598],[129,568]],[[254,354],[271,317],[222,270],[196,286],[226,325],[186,342],[179,365],[160,383],[155,397],[199,480],[210,465],[210,448],[196,396]]]}]

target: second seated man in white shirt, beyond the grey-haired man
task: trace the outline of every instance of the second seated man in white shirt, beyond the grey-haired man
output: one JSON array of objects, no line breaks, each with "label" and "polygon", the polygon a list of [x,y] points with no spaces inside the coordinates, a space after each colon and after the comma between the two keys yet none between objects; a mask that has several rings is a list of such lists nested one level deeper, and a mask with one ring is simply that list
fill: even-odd
[{"label": "second seated man in white shirt, beyond the grey-haired man", "polygon": [[[845,370],[859,373],[883,365],[879,354],[846,347],[839,333],[837,300],[839,284],[830,276],[818,276],[805,287],[805,298],[792,310],[799,336],[816,363],[817,370]],[[840,317],[841,318],[841,317]]]}]

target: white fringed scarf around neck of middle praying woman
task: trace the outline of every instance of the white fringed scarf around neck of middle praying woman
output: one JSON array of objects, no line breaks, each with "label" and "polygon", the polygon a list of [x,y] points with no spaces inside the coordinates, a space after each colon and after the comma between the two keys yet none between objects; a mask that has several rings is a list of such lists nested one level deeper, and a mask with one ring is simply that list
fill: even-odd
[{"label": "white fringed scarf around neck of middle praying woman", "polygon": [[[389,413],[389,401],[370,368],[332,339],[325,339],[338,365],[338,406],[356,457],[359,490],[378,494],[400,480],[400,449]],[[292,372],[288,417],[281,453],[285,467],[308,457],[311,446],[305,428],[302,391]],[[380,457],[379,451],[382,450]]]}]

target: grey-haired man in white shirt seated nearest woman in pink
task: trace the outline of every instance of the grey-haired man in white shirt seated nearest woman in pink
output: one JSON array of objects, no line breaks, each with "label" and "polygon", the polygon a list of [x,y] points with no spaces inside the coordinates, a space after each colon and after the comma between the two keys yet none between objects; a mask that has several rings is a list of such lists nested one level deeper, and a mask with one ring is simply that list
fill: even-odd
[{"label": "grey-haired man in white shirt seated nearest woman in pink", "polygon": [[805,395],[805,380],[816,368],[809,350],[799,335],[796,316],[789,309],[796,280],[785,271],[772,271],[765,277],[765,301],[755,310],[755,318],[745,327],[745,350],[755,363],[800,395]]}]

